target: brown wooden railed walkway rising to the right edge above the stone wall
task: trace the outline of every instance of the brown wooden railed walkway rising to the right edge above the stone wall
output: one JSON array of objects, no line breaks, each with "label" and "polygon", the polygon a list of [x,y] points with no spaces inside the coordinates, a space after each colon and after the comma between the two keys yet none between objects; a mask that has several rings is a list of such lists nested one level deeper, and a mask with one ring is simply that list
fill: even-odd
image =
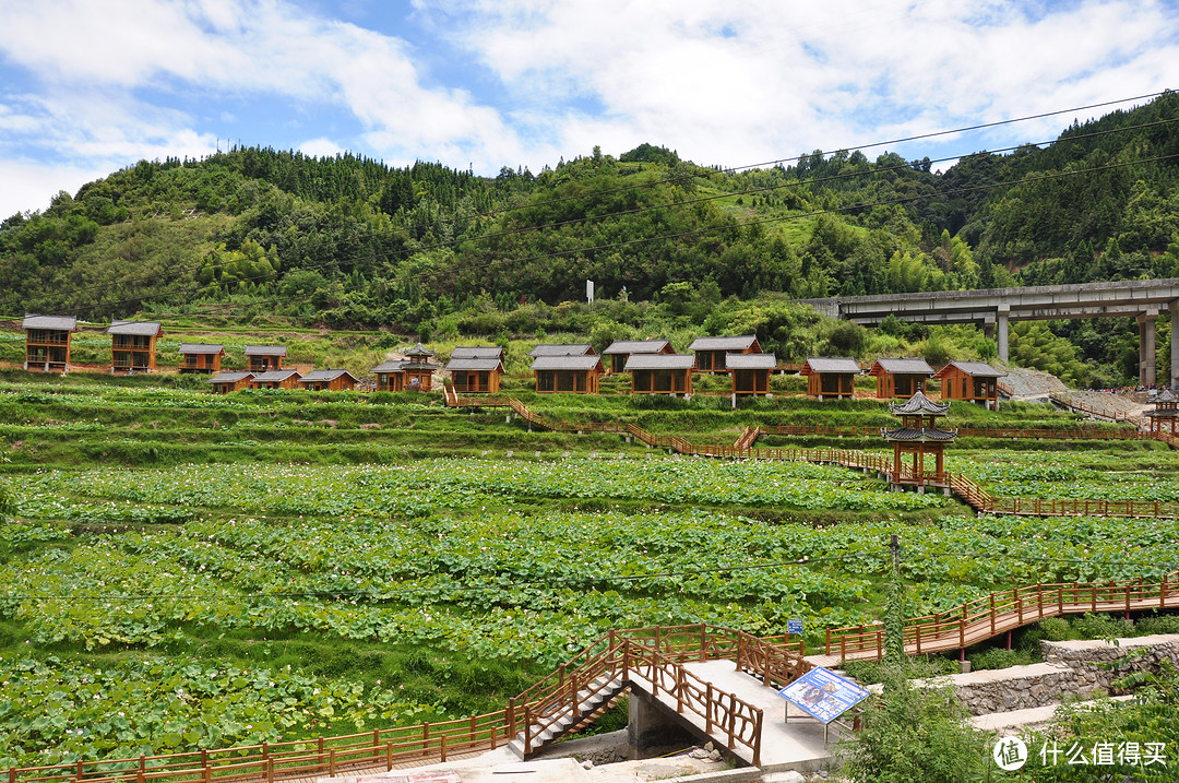
[{"label": "brown wooden railed walkway rising to the right edge above the stone wall", "polygon": [[[959,607],[904,621],[909,654],[964,650],[1046,617],[1086,612],[1133,612],[1179,607],[1179,571],[1155,584],[1141,579],[1015,587]],[[884,656],[884,626],[854,626],[826,632],[826,654],[849,658]]]}]

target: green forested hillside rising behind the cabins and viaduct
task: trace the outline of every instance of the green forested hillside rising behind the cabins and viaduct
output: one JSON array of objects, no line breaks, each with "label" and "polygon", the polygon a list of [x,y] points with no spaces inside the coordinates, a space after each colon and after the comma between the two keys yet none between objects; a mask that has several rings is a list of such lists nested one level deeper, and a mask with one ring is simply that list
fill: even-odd
[{"label": "green forested hillside rising behind the cabins and viaduct", "polygon": [[[253,147],[140,162],[0,225],[0,314],[277,314],[496,336],[567,327],[554,308],[590,278],[599,298],[627,301],[602,329],[643,333],[661,307],[720,330],[737,325],[717,315],[732,296],[780,310],[1179,275],[1179,96],[934,169],[839,151],[730,172],[652,145],[494,178]],[[1094,364],[1127,347],[1126,324],[1054,329]]]}]

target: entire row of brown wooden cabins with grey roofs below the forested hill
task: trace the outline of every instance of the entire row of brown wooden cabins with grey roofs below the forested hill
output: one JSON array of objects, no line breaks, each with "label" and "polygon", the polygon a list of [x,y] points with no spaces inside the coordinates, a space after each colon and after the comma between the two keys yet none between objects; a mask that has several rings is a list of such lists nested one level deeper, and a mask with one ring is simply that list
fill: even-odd
[{"label": "entire row of brown wooden cabins with grey roofs below the forested hill", "polygon": [[[61,316],[25,316],[25,369],[68,371],[70,335],[77,330],[75,318]],[[151,373],[156,369],[156,341],[163,335],[158,322],[116,321],[111,335],[111,373]],[[667,340],[619,340],[599,357],[590,343],[536,346],[532,371],[538,393],[597,394],[602,374],[628,373],[632,394],[692,394],[693,373],[727,373],[732,377],[733,396],[768,395],[770,375],[777,367],[773,354],[762,353],[755,335],[697,337],[689,354],[677,354]],[[283,346],[246,346],[249,369],[222,373],[220,344],[183,343],[179,349],[182,373],[205,373],[216,376],[216,390],[235,388],[354,388],[356,379],[347,370],[315,370],[298,374],[269,375],[283,370],[286,348]],[[503,353],[498,347],[459,347],[442,368],[433,362],[434,351],[421,343],[406,351],[404,360],[388,361],[374,368],[378,392],[420,390],[433,388],[435,370],[446,369],[457,392],[495,394],[503,373]],[[602,358],[607,360],[604,366]],[[810,396],[851,399],[855,377],[862,368],[852,358],[812,357],[799,370],[806,376]],[[909,397],[923,392],[926,381],[942,381],[943,400],[967,400],[994,407],[997,404],[997,380],[1005,374],[984,362],[950,362],[937,373],[921,358],[878,358],[869,369],[876,377],[880,399]],[[295,377],[297,375],[297,377]],[[330,377],[328,377],[330,375]],[[259,380],[261,379],[261,380]]]}]

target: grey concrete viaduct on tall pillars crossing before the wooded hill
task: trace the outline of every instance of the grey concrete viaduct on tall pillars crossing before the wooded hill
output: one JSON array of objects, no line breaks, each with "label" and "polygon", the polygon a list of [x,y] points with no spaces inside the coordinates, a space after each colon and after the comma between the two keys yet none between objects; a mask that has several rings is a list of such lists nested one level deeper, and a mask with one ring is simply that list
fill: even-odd
[{"label": "grey concrete viaduct on tall pillars crossing before the wooded hill", "polygon": [[973,291],[927,291],[883,296],[848,296],[801,300],[825,316],[865,327],[880,324],[888,315],[915,323],[974,323],[999,343],[999,357],[1008,360],[1008,325],[1012,321],[1063,318],[1137,318],[1138,379],[1155,382],[1155,321],[1171,316],[1171,386],[1179,384],[1179,278],[1127,279],[1075,285],[989,288]]}]

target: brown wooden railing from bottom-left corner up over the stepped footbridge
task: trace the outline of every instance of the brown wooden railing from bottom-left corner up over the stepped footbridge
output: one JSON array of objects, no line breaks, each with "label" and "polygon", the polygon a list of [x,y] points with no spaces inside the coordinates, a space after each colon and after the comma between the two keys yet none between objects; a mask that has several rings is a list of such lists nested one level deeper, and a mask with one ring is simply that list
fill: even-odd
[{"label": "brown wooden railing from bottom-left corner up over the stepped footbridge", "polygon": [[[799,644],[784,637],[758,638],[743,631],[712,625],[686,625],[611,631],[587,646],[553,675],[508,702],[496,712],[443,723],[400,729],[378,729],[341,737],[238,745],[213,750],[138,756],[106,761],[78,761],[45,766],[8,769],[8,783],[233,783],[314,776],[336,776],[355,769],[415,762],[444,762],[448,756],[493,750],[507,744],[551,711],[553,704],[577,698],[578,687],[593,682],[593,672],[625,673],[628,669],[651,684],[668,689],[672,679],[693,709],[706,705],[707,715],[725,729],[730,749],[749,746],[759,752],[760,710],[698,682],[690,672],[676,672],[690,660],[733,660],[738,669],[765,684],[784,686],[810,670]],[[587,679],[588,678],[588,679]],[[703,700],[698,690],[704,687]],[[574,695],[574,696],[571,696]],[[735,706],[736,705],[736,706]],[[750,728],[756,710],[756,726]],[[720,721],[724,721],[722,723]],[[525,733],[528,736],[528,732]],[[536,732],[533,731],[535,737]],[[756,762],[755,762],[756,763]]]}]

